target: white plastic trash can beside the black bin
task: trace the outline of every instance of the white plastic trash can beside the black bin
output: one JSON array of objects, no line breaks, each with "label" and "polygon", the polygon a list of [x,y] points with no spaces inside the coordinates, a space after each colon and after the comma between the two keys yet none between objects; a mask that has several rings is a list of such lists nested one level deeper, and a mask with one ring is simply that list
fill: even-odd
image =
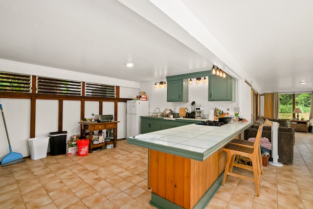
[{"label": "white plastic trash can beside the black bin", "polygon": [[47,157],[49,137],[37,137],[27,140],[31,160],[38,160]]}]

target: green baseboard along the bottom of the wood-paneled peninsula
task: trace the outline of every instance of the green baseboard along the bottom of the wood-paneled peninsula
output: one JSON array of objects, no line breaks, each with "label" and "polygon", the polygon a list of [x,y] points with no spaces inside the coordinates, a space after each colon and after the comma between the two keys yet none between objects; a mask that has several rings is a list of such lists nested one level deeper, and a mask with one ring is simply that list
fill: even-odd
[{"label": "green baseboard along the bottom of the wood-paneled peninsula", "polygon": [[[215,193],[218,191],[222,185],[224,172],[219,176],[219,178],[213,183],[213,185],[205,192],[198,203],[193,209],[205,209],[209,204],[211,199],[214,197]],[[150,205],[156,207],[157,209],[183,209],[180,206],[172,203],[154,193],[151,193]]]}]

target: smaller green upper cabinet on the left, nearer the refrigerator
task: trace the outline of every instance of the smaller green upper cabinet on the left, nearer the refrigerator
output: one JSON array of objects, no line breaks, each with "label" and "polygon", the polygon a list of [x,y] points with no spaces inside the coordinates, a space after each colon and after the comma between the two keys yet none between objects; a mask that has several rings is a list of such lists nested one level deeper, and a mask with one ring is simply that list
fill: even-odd
[{"label": "smaller green upper cabinet on the left, nearer the refrigerator", "polygon": [[188,102],[188,79],[167,81],[168,102]]}]

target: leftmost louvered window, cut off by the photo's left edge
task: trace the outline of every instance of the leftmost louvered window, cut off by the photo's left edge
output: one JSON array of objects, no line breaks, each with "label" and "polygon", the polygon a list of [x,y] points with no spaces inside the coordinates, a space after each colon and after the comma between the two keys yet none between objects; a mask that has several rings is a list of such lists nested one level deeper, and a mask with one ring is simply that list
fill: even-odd
[{"label": "leftmost louvered window, cut off by the photo's left edge", "polygon": [[31,75],[0,71],[0,92],[31,92]]}]

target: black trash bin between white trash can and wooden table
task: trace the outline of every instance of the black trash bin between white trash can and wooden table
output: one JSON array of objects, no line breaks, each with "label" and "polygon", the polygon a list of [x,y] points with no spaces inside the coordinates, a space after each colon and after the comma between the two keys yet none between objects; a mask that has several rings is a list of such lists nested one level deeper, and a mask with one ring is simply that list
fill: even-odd
[{"label": "black trash bin between white trash can and wooden table", "polygon": [[50,155],[62,155],[67,152],[67,131],[50,132]]}]

